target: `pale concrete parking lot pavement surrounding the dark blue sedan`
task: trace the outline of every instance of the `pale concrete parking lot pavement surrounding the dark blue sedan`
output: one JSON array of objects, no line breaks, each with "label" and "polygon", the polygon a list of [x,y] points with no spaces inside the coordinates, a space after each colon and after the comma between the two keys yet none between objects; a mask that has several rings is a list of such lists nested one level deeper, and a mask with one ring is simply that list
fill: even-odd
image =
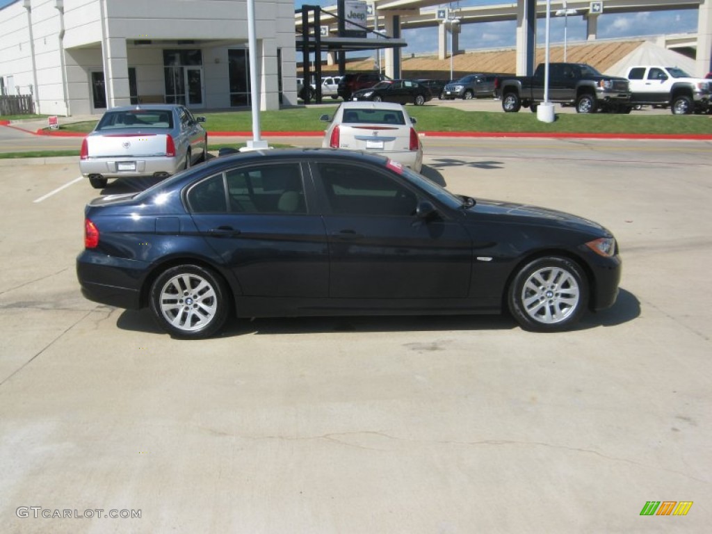
[{"label": "pale concrete parking lot pavement surrounding the dark blue sedan", "polygon": [[[554,335],[506,317],[309,318],[172,340],[81,298],[96,192],[75,164],[1,169],[0,530],[706,531],[708,143],[429,146],[429,175],[456,192],[609,226],[617,305]],[[642,517],[647,501],[693,506]]]}]

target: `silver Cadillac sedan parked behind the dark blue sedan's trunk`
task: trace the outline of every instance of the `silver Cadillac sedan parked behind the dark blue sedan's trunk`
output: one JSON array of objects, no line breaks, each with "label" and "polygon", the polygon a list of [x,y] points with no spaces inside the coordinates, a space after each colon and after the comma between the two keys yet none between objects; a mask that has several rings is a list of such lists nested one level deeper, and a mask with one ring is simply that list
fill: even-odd
[{"label": "silver Cadillac sedan parked behind the dark blue sedan's trunk", "polygon": [[178,104],[111,108],[84,138],[79,169],[97,189],[109,178],[168,177],[205,161],[204,121]]}]

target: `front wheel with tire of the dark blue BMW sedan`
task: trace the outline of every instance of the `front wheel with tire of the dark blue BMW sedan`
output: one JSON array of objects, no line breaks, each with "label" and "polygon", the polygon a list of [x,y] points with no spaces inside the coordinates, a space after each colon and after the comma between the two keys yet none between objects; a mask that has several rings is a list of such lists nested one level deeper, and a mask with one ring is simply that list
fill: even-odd
[{"label": "front wheel with tire of the dark blue BMW sedan", "polygon": [[547,256],[527,263],[507,293],[510,313],[525,330],[560,332],[574,325],[588,306],[588,281],[568,258]]}]

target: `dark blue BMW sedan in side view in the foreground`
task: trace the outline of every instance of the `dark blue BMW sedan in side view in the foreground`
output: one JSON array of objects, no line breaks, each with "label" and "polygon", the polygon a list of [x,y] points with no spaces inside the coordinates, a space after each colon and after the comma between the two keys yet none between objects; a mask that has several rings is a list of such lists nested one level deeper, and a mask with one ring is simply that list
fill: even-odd
[{"label": "dark blue BMW sedan in side view in the foreground", "polygon": [[508,310],[527,330],[611,306],[621,260],[604,227],[475,201],[376,155],[219,157],[85,209],[77,275],[90,300],[150,307],[175,337],[238,317]]}]

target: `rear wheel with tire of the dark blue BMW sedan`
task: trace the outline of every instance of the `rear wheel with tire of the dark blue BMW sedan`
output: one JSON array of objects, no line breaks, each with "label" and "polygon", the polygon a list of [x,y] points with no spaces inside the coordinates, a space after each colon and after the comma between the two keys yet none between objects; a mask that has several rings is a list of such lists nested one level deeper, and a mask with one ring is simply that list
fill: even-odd
[{"label": "rear wheel with tire of the dark blue BMW sedan", "polygon": [[202,339],[216,333],[229,315],[229,293],[213,271],[197,265],[171,267],[151,286],[153,317],[173,337]]}]

